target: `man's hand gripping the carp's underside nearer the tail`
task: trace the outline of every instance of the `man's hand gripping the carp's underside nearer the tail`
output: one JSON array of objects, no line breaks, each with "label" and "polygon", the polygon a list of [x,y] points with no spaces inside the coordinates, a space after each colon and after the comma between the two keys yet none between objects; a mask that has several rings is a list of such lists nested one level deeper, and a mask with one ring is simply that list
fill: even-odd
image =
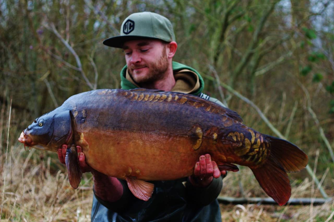
[{"label": "man's hand gripping the carp's underside nearer the tail", "polygon": [[189,176],[189,181],[196,187],[207,187],[214,178],[226,174],[225,170],[220,171],[215,161],[211,160],[210,154],[201,155],[196,162],[194,174]]}]

